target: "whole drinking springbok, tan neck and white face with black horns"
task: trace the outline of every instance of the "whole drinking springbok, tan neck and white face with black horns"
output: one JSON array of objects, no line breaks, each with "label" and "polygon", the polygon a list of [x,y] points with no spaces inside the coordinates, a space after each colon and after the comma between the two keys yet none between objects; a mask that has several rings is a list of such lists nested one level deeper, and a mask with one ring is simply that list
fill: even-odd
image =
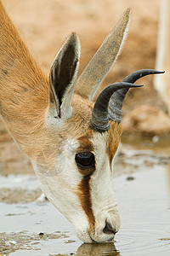
[{"label": "whole drinking springbok, tan neck and white face with black horns", "polygon": [[[96,90],[120,53],[127,9],[77,79],[80,43],[72,33],[49,79],[0,1],[0,112],[14,141],[30,158],[42,191],[84,242],[111,241],[120,228],[112,161],[122,134],[122,102],[140,70]],[[75,90],[74,90],[75,88]]]}]

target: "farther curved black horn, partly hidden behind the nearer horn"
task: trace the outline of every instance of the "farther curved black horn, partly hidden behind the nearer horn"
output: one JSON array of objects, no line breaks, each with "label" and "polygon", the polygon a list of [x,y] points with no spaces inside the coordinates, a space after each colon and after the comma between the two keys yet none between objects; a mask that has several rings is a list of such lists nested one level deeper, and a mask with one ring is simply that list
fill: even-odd
[{"label": "farther curved black horn, partly hidden behind the nearer horn", "polygon": [[[141,69],[136,72],[129,74],[122,82],[127,83],[134,83],[136,80],[149,75],[149,74],[157,74],[157,73],[164,73],[161,71],[156,71],[153,69]],[[125,96],[127,95],[127,91],[129,88],[124,88],[122,90],[117,90],[111,96],[111,101],[109,102],[108,114],[109,119],[115,120],[116,122],[120,123],[122,120],[122,104],[124,101]]]}]

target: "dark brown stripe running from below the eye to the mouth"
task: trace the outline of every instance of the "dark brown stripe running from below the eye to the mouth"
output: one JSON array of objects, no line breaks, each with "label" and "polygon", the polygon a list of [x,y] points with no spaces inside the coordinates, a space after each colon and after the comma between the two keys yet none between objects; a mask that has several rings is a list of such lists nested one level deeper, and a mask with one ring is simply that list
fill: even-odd
[{"label": "dark brown stripe running from below the eye to the mouth", "polygon": [[92,199],[90,194],[90,176],[85,176],[82,178],[81,183],[78,184],[78,196],[81,201],[82,209],[86,213],[88,218],[88,224],[90,230],[94,232],[95,218],[94,212],[92,209]]}]

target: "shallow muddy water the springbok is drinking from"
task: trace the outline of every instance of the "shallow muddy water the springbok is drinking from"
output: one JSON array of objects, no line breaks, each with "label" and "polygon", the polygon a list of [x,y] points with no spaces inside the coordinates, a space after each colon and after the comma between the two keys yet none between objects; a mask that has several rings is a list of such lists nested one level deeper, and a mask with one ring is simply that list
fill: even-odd
[{"label": "shallow muddy water the springbok is drinking from", "polygon": [[169,152],[168,146],[126,144],[121,148],[115,163],[115,187],[122,228],[114,243],[82,244],[50,202],[36,201],[35,195],[40,195],[36,177],[0,177],[0,253],[170,255]]}]

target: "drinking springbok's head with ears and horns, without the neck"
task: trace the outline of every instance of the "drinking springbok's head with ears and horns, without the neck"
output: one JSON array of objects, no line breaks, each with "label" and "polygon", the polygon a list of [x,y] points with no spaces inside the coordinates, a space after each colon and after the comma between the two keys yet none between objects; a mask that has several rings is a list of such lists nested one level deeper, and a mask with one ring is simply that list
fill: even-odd
[{"label": "drinking springbok's head with ears and horns, without the neck", "polygon": [[122,134],[122,102],[130,87],[139,86],[133,84],[137,79],[156,73],[132,73],[92,102],[122,47],[129,14],[127,9],[78,79],[80,44],[74,33],[50,72],[46,125],[51,143],[33,166],[42,191],[84,242],[111,241],[120,228],[112,161]]}]

